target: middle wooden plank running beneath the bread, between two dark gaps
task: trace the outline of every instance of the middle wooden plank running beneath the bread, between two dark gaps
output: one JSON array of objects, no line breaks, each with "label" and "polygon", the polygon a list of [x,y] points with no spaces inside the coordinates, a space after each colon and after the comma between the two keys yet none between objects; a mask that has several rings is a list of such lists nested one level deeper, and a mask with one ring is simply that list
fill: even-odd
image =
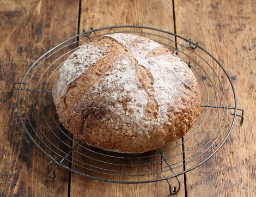
[{"label": "middle wooden plank running beneath the bread, between two dark gaps", "polygon": [[[82,29],[90,29],[91,27],[99,28],[99,27],[106,27],[106,26],[117,26],[117,25],[125,25],[125,24],[132,24],[132,25],[141,25],[141,26],[151,26],[156,28],[162,28],[165,30],[169,30],[170,32],[174,32],[174,21],[173,21],[173,8],[171,1],[82,1],[81,7],[81,22],[80,22],[80,31]],[[126,29],[127,30],[127,29]],[[129,29],[131,30],[131,29]],[[132,30],[139,30],[139,29],[132,29]],[[109,33],[111,30],[101,31],[100,33]],[[151,39],[156,39],[156,36],[148,35],[149,30],[143,30],[144,33],[141,35],[147,36]],[[97,32],[99,34],[99,32]],[[91,34],[90,36],[94,36]],[[173,36],[169,38],[174,39]],[[84,42],[88,42],[88,39],[83,38]],[[167,40],[159,39],[157,41],[165,41],[167,44],[175,47],[173,42],[168,43]],[[177,143],[180,143],[181,140],[178,140]],[[171,144],[172,146],[175,143]],[[170,145],[170,146],[171,146]],[[166,147],[168,148],[168,147]],[[83,152],[85,155],[92,156],[97,159],[103,159],[102,156],[95,156],[95,154],[90,154],[89,151],[84,149],[77,148],[77,151]],[[169,151],[164,153],[164,156],[170,157],[171,155],[181,152],[182,148],[179,146],[175,151]],[[105,153],[105,151],[102,151]],[[158,152],[155,152],[158,154]],[[147,155],[148,153],[146,153]],[[151,153],[154,155],[154,152]],[[120,154],[114,154],[117,156],[121,156]],[[80,159],[80,161],[87,162],[93,165],[99,165],[99,162],[90,161],[92,159],[88,159],[84,156],[81,156],[80,153],[74,152],[74,158]],[[73,162],[80,163],[75,161],[73,158]],[[108,159],[108,160],[107,160]],[[103,159],[104,160],[104,159]],[[117,163],[118,159],[114,158],[106,158],[105,161]],[[136,161],[132,159],[126,159],[125,164],[136,164]],[[144,162],[154,162],[159,161],[160,156],[151,157],[150,159],[144,159]],[[182,161],[182,155],[177,156],[175,159],[172,159],[172,162]],[[163,163],[163,165],[165,165]],[[86,165],[83,165],[86,167]],[[104,164],[100,165],[102,168],[112,169],[112,170],[127,170],[127,167],[113,167],[112,165]],[[88,167],[88,165],[87,165]],[[161,168],[161,163],[151,164],[151,169]],[[78,168],[76,165],[72,165],[73,169],[82,171],[81,168]],[[92,167],[89,167],[92,168]],[[95,168],[94,168],[95,169]],[[145,170],[143,166],[133,168],[133,170]],[[99,170],[99,169],[96,169]],[[131,169],[129,169],[131,170]],[[182,170],[182,167],[177,168],[176,170]],[[156,170],[157,171],[157,170]],[[109,176],[99,173],[92,173],[90,170],[83,171],[86,174],[92,176],[99,176],[101,178],[109,178]],[[106,172],[106,171],[105,171]],[[170,175],[170,171],[165,173],[165,175]],[[151,178],[157,177],[157,175],[151,176]],[[113,177],[114,178],[114,177]],[[178,193],[178,196],[184,196],[184,181],[183,176],[179,177],[181,180],[181,189]],[[132,178],[133,181],[136,178]],[[140,180],[137,177],[137,180]],[[173,180],[171,180],[173,181]],[[175,182],[174,182],[175,184]],[[80,175],[72,173],[71,176],[71,190],[70,196],[80,196],[81,194],[87,196],[167,196],[169,195],[169,188],[166,181],[160,181],[155,183],[145,183],[145,184],[117,184],[117,183],[107,183],[107,182],[99,182],[96,180],[92,180],[86,177],[82,177]]]}]

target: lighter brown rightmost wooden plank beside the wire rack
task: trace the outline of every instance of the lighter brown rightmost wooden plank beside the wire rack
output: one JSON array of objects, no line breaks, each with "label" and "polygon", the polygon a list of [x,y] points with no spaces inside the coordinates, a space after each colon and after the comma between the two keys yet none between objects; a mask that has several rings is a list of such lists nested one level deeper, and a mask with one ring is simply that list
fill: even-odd
[{"label": "lighter brown rightmost wooden plank beside the wire rack", "polygon": [[[222,149],[186,174],[188,196],[255,195],[255,6],[255,1],[233,1],[230,4],[230,1],[175,0],[177,34],[186,38],[191,36],[221,61],[234,83],[237,106],[245,110],[243,125],[239,125],[237,118]],[[221,75],[222,71],[217,69],[217,73]],[[224,78],[222,83],[224,88],[228,87]],[[230,95],[228,91],[228,103],[234,103]],[[185,148],[195,140],[192,138]]]}]

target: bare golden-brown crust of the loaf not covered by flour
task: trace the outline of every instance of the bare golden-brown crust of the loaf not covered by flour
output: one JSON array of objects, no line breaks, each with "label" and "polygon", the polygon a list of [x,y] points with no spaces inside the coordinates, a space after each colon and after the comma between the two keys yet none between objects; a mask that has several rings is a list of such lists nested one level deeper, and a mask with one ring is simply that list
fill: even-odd
[{"label": "bare golden-brown crust of the loaf not covered by flour", "polygon": [[[184,77],[191,77],[190,83],[184,84],[185,88],[181,88],[175,103],[170,104],[168,121],[161,126],[157,121],[159,106],[154,98],[154,79],[150,72],[138,65],[127,49],[111,38],[104,37],[92,44],[106,48],[107,56],[97,61],[71,83],[65,98],[60,99],[58,105],[54,99],[58,96],[54,91],[58,79],[54,84],[53,101],[62,124],[84,143],[115,152],[141,153],[155,150],[184,136],[199,115],[200,93],[196,78],[186,73],[187,76]],[[158,47],[151,52],[150,56],[169,53],[166,47]],[[132,121],[129,115],[125,115],[129,100],[127,96],[119,101],[125,112],[124,119],[109,108],[109,106],[114,108],[119,103],[105,102],[105,89],[99,95],[86,95],[81,100],[96,81],[105,77],[105,73],[112,69],[113,61],[120,56],[131,60],[136,67],[141,88],[147,92],[147,109],[139,123]],[[122,91],[121,87],[116,91]],[[141,130],[139,133],[138,128]]]}]

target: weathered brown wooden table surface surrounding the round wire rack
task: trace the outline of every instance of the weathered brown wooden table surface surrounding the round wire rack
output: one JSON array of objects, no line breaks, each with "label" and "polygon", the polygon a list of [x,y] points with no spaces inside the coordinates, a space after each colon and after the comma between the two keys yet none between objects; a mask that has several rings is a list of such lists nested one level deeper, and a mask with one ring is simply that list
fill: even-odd
[{"label": "weathered brown wooden table surface surrounding the round wire rack", "polygon": [[[193,2],[193,3],[191,3]],[[17,115],[15,82],[60,41],[90,27],[136,24],[198,40],[228,70],[245,110],[228,142],[182,176],[177,196],[256,195],[256,1],[0,1],[0,196],[167,196],[165,181],[113,184],[58,168],[29,139]],[[203,170],[204,169],[204,170]]]}]

